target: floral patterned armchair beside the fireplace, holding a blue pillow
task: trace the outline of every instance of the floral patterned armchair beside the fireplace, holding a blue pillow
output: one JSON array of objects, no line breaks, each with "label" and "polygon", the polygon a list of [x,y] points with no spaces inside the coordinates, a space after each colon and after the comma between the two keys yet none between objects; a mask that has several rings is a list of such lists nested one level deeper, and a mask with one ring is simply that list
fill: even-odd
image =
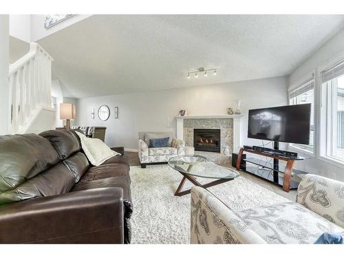
[{"label": "floral patterned armchair beside the fireplace, holding a blue pillow", "polygon": [[[147,136],[155,135],[156,138],[169,137],[169,147],[149,148],[149,138]],[[158,137],[159,136],[159,137]],[[185,154],[185,142],[175,138],[175,133],[167,132],[139,132],[138,133],[138,157],[141,167],[145,168],[147,164],[164,164],[170,158],[176,155]]]}]

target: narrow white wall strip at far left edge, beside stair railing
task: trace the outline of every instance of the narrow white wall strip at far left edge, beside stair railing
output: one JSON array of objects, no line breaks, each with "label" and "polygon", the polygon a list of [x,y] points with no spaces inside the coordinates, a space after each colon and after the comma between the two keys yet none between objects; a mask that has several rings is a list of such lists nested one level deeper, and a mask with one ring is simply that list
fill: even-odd
[{"label": "narrow white wall strip at far left edge, beside stair railing", "polygon": [[8,83],[8,15],[0,15],[0,136],[7,134],[10,126],[10,85]]}]

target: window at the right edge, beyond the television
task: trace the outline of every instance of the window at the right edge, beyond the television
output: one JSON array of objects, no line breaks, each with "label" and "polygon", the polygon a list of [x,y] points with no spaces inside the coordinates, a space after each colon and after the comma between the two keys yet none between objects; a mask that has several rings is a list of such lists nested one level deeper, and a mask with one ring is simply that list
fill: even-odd
[{"label": "window at the right edge, beyond the television", "polygon": [[344,162],[344,61],[321,73],[322,155]]}]

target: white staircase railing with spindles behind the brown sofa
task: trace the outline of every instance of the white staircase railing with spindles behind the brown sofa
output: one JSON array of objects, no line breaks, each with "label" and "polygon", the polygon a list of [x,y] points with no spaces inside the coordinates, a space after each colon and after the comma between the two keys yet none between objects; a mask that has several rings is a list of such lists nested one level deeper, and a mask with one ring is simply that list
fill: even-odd
[{"label": "white staircase railing with spindles behind the brown sofa", "polygon": [[52,107],[52,61],[37,43],[10,65],[10,133],[25,133],[42,108]]}]

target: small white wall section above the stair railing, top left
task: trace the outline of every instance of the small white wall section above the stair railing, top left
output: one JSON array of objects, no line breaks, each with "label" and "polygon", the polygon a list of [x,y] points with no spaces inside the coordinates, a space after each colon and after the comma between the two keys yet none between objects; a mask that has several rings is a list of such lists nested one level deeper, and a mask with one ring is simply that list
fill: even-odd
[{"label": "small white wall section above the stair railing, top left", "polygon": [[31,15],[10,14],[10,35],[31,42]]}]

